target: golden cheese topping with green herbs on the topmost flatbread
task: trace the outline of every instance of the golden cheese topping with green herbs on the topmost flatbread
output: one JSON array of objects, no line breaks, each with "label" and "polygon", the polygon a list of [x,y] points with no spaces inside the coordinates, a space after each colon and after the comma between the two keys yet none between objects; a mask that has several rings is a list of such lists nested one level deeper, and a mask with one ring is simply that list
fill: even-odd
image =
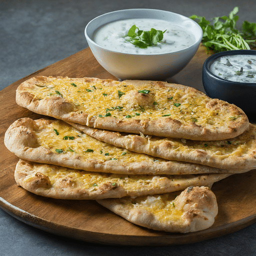
[{"label": "golden cheese topping with green herbs on the topmost flatbread", "polygon": [[111,85],[84,79],[51,78],[26,88],[37,99],[59,96],[73,102],[75,112],[86,112],[95,117],[112,116],[118,119],[150,119],[171,117],[181,123],[228,126],[233,120],[242,118],[227,111],[207,107],[209,98],[194,90],[177,89],[152,84],[112,81]]}]

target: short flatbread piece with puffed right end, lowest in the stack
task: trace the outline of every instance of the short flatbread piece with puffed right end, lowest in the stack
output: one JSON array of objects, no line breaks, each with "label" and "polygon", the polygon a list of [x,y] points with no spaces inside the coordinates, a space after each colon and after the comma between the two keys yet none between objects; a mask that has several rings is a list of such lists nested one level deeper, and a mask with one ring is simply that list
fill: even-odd
[{"label": "short flatbread piece with puffed right end, lowest in the stack", "polygon": [[155,230],[186,233],[206,229],[214,223],[218,207],[208,187],[188,187],[176,197],[175,193],[97,202],[134,224]]}]

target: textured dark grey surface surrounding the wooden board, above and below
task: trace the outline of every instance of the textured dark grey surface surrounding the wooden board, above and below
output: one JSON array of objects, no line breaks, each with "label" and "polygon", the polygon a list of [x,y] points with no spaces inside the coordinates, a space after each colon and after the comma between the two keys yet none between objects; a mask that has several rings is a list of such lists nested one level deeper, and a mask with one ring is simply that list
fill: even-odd
[{"label": "textured dark grey surface surrounding the wooden board, above and below", "polygon": [[[228,15],[256,22],[255,0],[1,0],[0,89],[87,47],[92,18],[126,8],[155,8],[190,16]],[[106,246],[66,239],[33,228],[0,209],[0,256],[5,255],[256,255],[256,224],[206,241],[163,247]]]}]

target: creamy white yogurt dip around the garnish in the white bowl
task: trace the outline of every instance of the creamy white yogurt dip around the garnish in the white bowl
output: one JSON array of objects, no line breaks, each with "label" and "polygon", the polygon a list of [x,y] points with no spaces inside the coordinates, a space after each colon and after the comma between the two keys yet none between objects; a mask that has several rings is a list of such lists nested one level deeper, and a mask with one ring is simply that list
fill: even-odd
[{"label": "creamy white yogurt dip around the garnish in the white bowl", "polygon": [[[148,31],[151,28],[166,31],[163,39],[147,48],[139,48],[127,41],[128,30],[136,25],[139,30]],[[167,53],[188,47],[195,42],[188,30],[171,22],[150,18],[130,18],[116,20],[102,25],[92,35],[92,40],[109,50],[124,53],[155,54]]]}]

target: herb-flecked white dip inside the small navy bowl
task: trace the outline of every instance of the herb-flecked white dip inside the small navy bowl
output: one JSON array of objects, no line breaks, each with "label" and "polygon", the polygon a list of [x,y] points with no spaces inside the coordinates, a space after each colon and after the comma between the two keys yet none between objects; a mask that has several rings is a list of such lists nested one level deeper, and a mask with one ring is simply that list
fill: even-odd
[{"label": "herb-flecked white dip inside the small navy bowl", "polygon": [[229,81],[256,83],[256,55],[225,55],[214,60],[209,70]]}]

